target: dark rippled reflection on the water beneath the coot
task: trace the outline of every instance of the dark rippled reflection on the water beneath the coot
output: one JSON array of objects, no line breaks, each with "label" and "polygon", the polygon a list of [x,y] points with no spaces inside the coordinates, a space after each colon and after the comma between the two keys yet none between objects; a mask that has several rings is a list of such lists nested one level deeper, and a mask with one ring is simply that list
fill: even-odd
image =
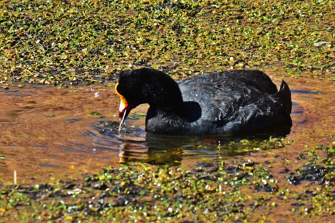
[{"label": "dark rippled reflection on the water beneath the coot", "polygon": [[[211,160],[246,152],[261,147],[269,137],[284,137],[292,123],[265,129],[264,132],[232,136],[167,136],[146,133],[143,129],[124,125],[119,133],[118,122],[101,121],[94,128],[101,133],[96,138],[97,149],[118,148],[121,163],[141,161],[151,164],[179,165],[183,159]],[[247,139],[248,143],[245,143]]]}]

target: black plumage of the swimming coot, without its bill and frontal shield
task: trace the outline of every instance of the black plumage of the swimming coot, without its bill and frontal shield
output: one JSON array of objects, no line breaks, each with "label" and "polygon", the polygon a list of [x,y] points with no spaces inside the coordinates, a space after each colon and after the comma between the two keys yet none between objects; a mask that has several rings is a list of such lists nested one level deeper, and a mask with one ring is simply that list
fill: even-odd
[{"label": "black plumage of the swimming coot, without its bill and frontal shield", "polygon": [[130,109],[149,103],[146,131],[168,135],[241,134],[291,124],[291,93],[259,70],[228,70],[174,81],[149,68],[120,73]]}]

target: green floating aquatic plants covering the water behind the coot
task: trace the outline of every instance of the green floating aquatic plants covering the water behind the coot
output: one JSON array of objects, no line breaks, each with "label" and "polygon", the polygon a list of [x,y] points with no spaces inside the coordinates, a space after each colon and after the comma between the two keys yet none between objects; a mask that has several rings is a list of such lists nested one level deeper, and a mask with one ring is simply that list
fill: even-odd
[{"label": "green floating aquatic plants covering the water behind the coot", "polygon": [[279,65],[282,75],[333,79],[333,0],[12,0],[0,8],[3,86],[100,82],[139,66],[180,78]]}]

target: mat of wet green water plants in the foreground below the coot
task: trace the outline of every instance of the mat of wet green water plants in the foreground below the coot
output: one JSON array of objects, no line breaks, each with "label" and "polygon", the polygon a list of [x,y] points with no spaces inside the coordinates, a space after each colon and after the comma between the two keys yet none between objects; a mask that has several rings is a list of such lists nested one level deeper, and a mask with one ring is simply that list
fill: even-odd
[{"label": "mat of wet green water plants in the foreground below the coot", "polygon": [[238,157],[193,169],[128,163],[70,181],[7,186],[0,215],[4,221],[331,222],[335,147],[317,146],[292,160],[264,156],[264,162]]}]

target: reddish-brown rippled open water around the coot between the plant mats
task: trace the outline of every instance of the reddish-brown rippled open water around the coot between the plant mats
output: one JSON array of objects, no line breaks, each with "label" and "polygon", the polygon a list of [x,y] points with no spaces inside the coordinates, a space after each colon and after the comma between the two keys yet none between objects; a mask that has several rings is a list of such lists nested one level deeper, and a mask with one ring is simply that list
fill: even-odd
[{"label": "reddish-brown rippled open water around the coot between the plant mats", "polygon": [[[279,85],[280,78],[273,75]],[[313,78],[285,79],[292,89],[293,126],[290,145],[275,152],[296,157],[296,151],[330,144],[335,134],[335,87]],[[120,161],[193,164],[231,156],[217,149],[222,138],[151,137],[144,129],[146,105],[137,108],[119,134],[119,97],[104,85],[60,88],[41,84],[0,89],[0,178],[21,183],[93,173]],[[109,128],[102,127],[108,121]],[[225,139],[223,139],[225,140]],[[274,152],[273,150],[271,152]],[[247,153],[259,156],[262,152]]]}]

